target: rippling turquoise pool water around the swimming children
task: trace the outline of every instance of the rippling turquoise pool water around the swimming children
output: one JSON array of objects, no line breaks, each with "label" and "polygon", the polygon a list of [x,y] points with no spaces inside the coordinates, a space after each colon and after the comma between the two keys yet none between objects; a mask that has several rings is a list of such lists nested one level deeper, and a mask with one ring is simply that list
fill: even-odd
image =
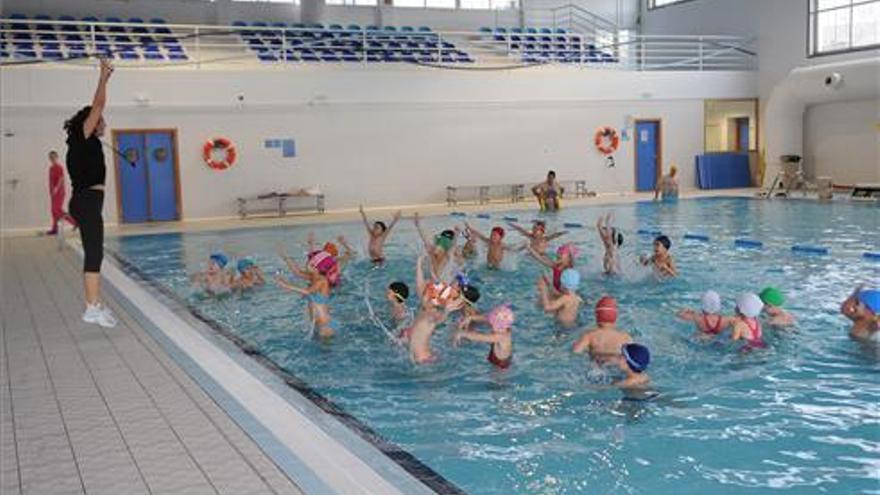
[{"label": "rippling turquoise pool water around the swimming children", "polygon": [[[612,210],[625,234],[625,274],[616,279],[600,274],[592,227]],[[437,363],[411,364],[383,328],[391,327],[387,284],[414,285],[420,242],[409,220],[392,233],[381,268],[366,258],[360,223],[131,236],[108,247],[468,493],[877,494],[880,357],[877,347],[848,338],[838,308],[856,283],[880,285],[880,263],[861,258],[880,248],[878,213],[876,204],[716,198],[546,216],[551,231],[564,222],[585,226],[565,238],[584,250],[581,325],[593,323],[599,297],[618,298],[619,326],[653,353],[649,374],[659,395],[649,401],[603,385],[585,358],[572,355],[580,332],[559,329],[536,308],[544,270],[525,256],[501,271],[482,261],[468,267],[481,310],[509,302],[517,312],[509,370],[486,362],[485,344],[454,347],[451,325],[434,336]],[[500,218],[468,220],[488,232]],[[461,221],[424,224],[437,231]],[[639,229],[670,236],[678,279],[659,282],[637,266],[651,250],[651,236]],[[251,256],[271,277],[283,267],[277,247],[299,256],[309,231],[322,241],[344,234],[361,251],[332,299],[341,331],[331,343],[309,338],[305,302],[274,285],[222,299],[190,287],[187,275],[215,250]],[[683,240],[685,233],[710,241]],[[765,246],[737,249],[740,237]],[[830,255],[792,253],[793,244],[821,245]],[[725,338],[697,339],[674,316],[697,308],[706,289],[721,293],[731,312],[737,294],[765,285],[783,289],[798,322],[792,332],[765,330],[766,350],[741,354]]]}]

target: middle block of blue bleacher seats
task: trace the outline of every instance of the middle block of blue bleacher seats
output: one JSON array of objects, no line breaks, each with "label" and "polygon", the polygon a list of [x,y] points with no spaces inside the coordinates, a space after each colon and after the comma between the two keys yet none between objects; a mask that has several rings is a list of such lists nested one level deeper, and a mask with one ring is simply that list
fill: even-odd
[{"label": "middle block of blue bleacher seats", "polygon": [[474,62],[468,53],[440,39],[427,26],[362,28],[357,24],[244,21],[236,21],[233,26],[241,40],[264,62]]}]

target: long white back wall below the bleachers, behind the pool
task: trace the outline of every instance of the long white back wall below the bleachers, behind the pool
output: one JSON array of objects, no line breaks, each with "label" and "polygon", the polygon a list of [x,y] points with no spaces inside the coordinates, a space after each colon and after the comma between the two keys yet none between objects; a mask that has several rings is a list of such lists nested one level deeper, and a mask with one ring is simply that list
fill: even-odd
[{"label": "long white back wall below the bleachers, behind the pool", "polygon": [[[646,73],[541,67],[462,72],[413,68],[301,67],[296,70],[126,70],[114,74],[109,126],[177,128],[183,215],[234,214],[234,198],[320,185],[328,207],[442,202],[448,184],[536,182],[547,168],[587,179],[600,192],[632,191],[632,142],[606,169],[593,149],[595,129],[627,116],[663,119],[663,163],[677,163],[693,187],[703,149],[703,99],[754,95],[748,73]],[[63,81],[63,83],[59,83]],[[88,102],[88,69],[4,70],[0,163],[3,226],[46,221],[45,151],[63,151],[61,123]],[[63,84],[65,91],[59,91]],[[146,95],[150,106],[134,98]],[[244,94],[245,104],[236,103]],[[75,103],[74,103],[75,102]],[[310,103],[311,102],[311,103]],[[240,161],[214,172],[202,143],[228,136]],[[266,138],[293,137],[298,156],[263,149]],[[105,215],[116,216],[114,172]]]}]

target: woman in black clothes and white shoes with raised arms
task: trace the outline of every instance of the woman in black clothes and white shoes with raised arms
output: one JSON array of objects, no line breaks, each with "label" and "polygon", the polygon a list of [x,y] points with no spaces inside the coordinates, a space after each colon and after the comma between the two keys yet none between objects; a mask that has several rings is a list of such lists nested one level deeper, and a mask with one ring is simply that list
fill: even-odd
[{"label": "woman in black clothes and white shoes with raised arms", "polygon": [[101,304],[101,261],[104,258],[104,180],[107,168],[100,137],[104,135],[107,81],[113,66],[101,59],[101,76],[92,104],[64,122],[67,131],[67,173],[73,187],[68,210],[79,224],[84,263],[83,285],[86,310],[83,321],[102,327],[116,326],[110,309]]}]

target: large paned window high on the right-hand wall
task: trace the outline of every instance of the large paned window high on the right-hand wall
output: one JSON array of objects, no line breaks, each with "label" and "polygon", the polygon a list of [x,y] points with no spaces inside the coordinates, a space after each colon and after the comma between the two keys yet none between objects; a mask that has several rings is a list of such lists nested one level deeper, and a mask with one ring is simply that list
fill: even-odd
[{"label": "large paned window high on the right-hand wall", "polygon": [[880,0],[808,0],[810,55],[880,46]]}]

